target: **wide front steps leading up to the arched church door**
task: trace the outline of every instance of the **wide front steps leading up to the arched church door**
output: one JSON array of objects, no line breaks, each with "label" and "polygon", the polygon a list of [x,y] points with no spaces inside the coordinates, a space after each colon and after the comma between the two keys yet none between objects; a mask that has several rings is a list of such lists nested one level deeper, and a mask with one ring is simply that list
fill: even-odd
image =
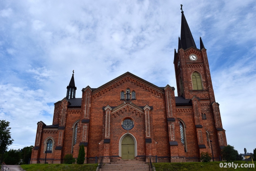
[{"label": "wide front steps leading up to the arched church door", "polygon": [[145,161],[139,160],[117,160],[114,162],[110,162],[110,164],[105,164],[103,166],[102,171],[115,171],[115,170],[122,170],[122,171],[149,171],[149,164]]}]

